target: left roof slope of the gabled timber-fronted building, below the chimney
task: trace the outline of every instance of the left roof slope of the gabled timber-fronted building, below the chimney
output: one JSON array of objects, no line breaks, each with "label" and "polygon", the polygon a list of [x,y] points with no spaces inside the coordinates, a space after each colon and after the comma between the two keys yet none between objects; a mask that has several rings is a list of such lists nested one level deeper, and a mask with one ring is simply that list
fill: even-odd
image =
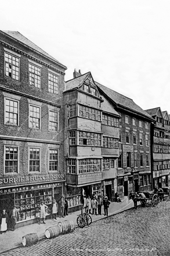
[{"label": "left roof slope of the gabled timber-fronted building, below the chimney", "polygon": [[81,76],[66,81],[66,91],[81,87],[84,81],[89,77],[89,74],[91,74],[91,72],[82,74]]}]

